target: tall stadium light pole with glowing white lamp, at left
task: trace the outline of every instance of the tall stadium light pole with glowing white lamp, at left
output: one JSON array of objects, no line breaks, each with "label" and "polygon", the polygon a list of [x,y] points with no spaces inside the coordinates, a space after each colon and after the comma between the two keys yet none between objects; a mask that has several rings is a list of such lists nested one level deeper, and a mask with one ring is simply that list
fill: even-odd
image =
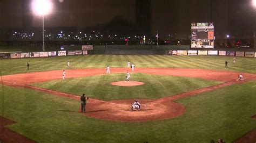
[{"label": "tall stadium light pole with glowing white lamp, at left", "polygon": [[44,16],[49,15],[52,11],[51,0],[33,0],[32,1],[33,13],[37,16],[42,16],[43,19],[43,52],[44,52]]}]

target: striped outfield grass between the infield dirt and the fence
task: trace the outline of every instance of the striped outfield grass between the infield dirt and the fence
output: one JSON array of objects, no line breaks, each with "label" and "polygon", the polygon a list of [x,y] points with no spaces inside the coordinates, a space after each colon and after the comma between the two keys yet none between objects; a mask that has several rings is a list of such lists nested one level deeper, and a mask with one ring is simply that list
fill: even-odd
[{"label": "striped outfield grass between the infield dirt and the fence", "polygon": [[[198,68],[232,70],[247,73],[256,72],[256,58],[236,58],[233,63],[232,56],[170,56],[170,55],[81,55],[51,58],[26,58],[0,60],[3,75],[26,73],[32,71],[65,69],[70,61],[71,69],[79,68],[105,68],[126,67],[127,61],[136,67],[162,67],[162,68]],[[225,61],[228,68],[225,68]],[[26,63],[30,63],[27,70]]]}]

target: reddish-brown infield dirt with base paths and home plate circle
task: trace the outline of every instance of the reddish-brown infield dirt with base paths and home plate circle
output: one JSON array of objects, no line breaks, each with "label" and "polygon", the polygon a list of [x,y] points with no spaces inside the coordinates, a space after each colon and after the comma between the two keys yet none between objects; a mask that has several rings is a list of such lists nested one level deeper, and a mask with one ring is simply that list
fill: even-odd
[{"label": "reddish-brown infield dirt with base paths and home plate circle", "polygon": [[[111,73],[125,73],[129,68],[112,68]],[[131,72],[132,73],[132,72]],[[115,101],[101,101],[99,99],[89,99],[86,105],[85,116],[112,121],[150,121],[170,119],[183,115],[186,109],[183,105],[173,102],[174,99],[196,95],[200,92],[214,90],[226,85],[242,83],[255,80],[255,74],[242,73],[245,81],[235,82],[238,74],[232,71],[205,70],[205,69],[185,69],[185,68],[137,68],[133,73],[146,73],[158,75],[171,75],[183,77],[198,77],[206,80],[223,81],[224,83],[213,85],[211,87],[185,92],[176,96],[168,96],[161,99],[139,99],[142,104],[142,110],[139,112],[129,111],[130,105],[134,99],[124,99]],[[70,69],[66,70],[66,77],[83,77],[105,74],[105,69]],[[65,96],[79,100],[79,96],[65,94],[58,91],[32,87],[28,84],[37,82],[46,82],[62,78],[62,70],[43,71],[35,73],[25,73],[3,76],[4,84],[13,87],[25,87],[33,90],[48,92],[53,95]],[[97,108],[95,108],[97,107]]]}]

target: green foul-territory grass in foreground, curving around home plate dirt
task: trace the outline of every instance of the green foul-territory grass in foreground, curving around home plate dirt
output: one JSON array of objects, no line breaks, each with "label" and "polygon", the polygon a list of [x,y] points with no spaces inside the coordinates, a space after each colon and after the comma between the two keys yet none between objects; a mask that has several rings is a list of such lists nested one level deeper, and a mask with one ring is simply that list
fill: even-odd
[{"label": "green foul-territory grass in foreground, curving around home plate dirt", "polygon": [[210,142],[220,137],[232,142],[256,127],[250,118],[256,111],[254,85],[178,99],[187,110],[183,116],[143,123],[89,118],[78,112],[74,99],[5,87],[4,116],[17,122],[8,128],[38,142]]}]

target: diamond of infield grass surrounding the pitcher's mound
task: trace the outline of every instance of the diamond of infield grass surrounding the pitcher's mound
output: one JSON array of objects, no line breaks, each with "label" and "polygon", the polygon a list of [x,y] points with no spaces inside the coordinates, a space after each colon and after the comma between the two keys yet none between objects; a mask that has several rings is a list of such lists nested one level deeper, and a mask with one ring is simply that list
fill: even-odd
[{"label": "diamond of infield grass surrounding the pitcher's mound", "polygon": [[124,81],[125,76],[126,74],[124,73],[67,78],[66,80],[54,80],[33,85],[70,94],[81,95],[86,93],[86,96],[89,97],[113,100],[131,98],[156,99],[221,83],[201,78],[131,74],[131,80],[141,81],[145,84],[133,87],[119,87],[110,84],[116,81]]}]

